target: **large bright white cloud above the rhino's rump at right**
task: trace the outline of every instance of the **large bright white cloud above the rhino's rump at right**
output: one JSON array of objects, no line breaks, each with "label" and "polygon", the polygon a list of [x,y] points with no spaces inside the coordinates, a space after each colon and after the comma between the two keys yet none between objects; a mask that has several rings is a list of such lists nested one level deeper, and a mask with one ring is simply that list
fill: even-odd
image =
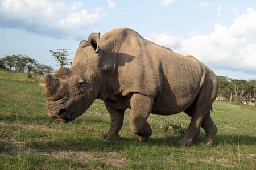
[{"label": "large bright white cloud above the rhino's rump at right", "polygon": [[[148,36],[159,45],[168,46],[184,55],[192,54],[216,69],[256,74],[256,11],[248,8],[232,25],[215,24],[209,35],[197,33],[189,38],[168,32]],[[252,37],[254,39],[252,39]],[[249,43],[250,39],[250,43]]]}]

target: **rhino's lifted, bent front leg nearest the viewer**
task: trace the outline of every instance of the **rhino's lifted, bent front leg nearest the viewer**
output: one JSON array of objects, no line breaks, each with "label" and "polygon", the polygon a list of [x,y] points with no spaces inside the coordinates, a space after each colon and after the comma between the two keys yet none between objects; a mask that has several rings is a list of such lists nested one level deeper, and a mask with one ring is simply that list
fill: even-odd
[{"label": "rhino's lifted, bent front leg nearest the viewer", "polygon": [[153,101],[154,99],[141,94],[133,94],[130,100],[129,126],[131,131],[138,135],[141,142],[147,141],[152,135],[150,125],[147,124],[147,118],[151,112]]}]

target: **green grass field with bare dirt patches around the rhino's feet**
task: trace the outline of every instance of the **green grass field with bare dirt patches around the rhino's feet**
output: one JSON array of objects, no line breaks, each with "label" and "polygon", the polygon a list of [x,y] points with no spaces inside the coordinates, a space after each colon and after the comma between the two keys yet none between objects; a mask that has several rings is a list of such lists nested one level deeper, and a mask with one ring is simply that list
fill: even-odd
[{"label": "green grass field with bare dirt patches around the rhino's feet", "polygon": [[63,124],[46,115],[38,76],[0,70],[0,169],[256,169],[256,107],[215,101],[213,146],[177,145],[190,118],[151,114],[144,143],[129,130],[129,110],[119,141],[99,138],[110,117],[100,100]]}]

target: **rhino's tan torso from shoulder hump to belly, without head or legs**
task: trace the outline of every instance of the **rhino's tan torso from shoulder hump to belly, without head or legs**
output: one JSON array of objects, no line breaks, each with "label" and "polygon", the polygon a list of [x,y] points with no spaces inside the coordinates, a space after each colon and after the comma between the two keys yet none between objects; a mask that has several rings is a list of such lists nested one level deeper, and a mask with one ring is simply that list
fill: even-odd
[{"label": "rhino's tan torso from shoulder hump to belly, without head or legs", "polygon": [[184,111],[196,99],[204,81],[210,80],[212,71],[196,58],[156,45],[131,29],[115,29],[105,37],[116,48],[119,91],[123,96],[139,93],[154,97],[152,112]]}]

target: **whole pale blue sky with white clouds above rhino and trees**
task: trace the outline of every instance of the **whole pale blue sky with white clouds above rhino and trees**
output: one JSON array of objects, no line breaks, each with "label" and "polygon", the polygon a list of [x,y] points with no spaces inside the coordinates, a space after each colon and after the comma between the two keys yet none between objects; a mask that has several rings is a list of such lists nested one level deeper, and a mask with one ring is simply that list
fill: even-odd
[{"label": "whole pale blue sky with white clouds above rhino and trees", "polygon": [[256,79],[254,0],[0,0],[0,57],[27,55],[56,69],[49,50],[75,53],[90,33],[119,27],[191,54],[217,75]]}]

